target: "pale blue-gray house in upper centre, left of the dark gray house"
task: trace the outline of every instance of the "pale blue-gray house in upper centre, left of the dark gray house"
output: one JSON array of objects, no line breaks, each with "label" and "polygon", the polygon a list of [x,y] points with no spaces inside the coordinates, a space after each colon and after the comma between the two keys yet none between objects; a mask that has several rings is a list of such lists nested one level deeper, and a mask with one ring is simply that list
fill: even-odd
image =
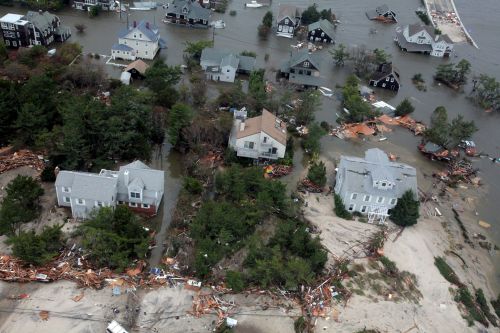
[{"label": "pale blue-gray house in upper centre, left of the dark gray house", "polygon": [[254,69],[255,58],[210,47],[203,49],[200,66],[208,80],[234,82],[237,73],[249,74]]}]

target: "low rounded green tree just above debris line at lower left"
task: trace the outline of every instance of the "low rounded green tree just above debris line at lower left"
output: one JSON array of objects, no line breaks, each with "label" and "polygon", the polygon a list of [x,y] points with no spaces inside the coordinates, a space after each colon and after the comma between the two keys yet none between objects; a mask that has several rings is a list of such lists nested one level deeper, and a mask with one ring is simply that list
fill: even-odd
[{"label": "low rounded green tree just above debris line at lower left", "polygon": [[61,228],[59,225],[44,227],[40,235],[33,230],[21,231],[8,240],[12,244],[12,253],[29,264],[46,264],[59,254],[64,245]]}]

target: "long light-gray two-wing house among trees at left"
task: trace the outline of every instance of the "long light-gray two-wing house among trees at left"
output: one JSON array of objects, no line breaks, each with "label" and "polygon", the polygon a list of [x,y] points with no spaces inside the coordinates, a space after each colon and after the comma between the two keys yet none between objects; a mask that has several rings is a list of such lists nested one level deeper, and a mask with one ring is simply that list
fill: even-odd
[{"label": "long light-gray two-wing house among trees at left", "polygon": [[85,219],[101,207],[128,205],[148,216],[158,212],[164,191],[164,172],[141,161],[100,173],[60,171],[56,179],[57,203],[71,207],[75,218]]}]

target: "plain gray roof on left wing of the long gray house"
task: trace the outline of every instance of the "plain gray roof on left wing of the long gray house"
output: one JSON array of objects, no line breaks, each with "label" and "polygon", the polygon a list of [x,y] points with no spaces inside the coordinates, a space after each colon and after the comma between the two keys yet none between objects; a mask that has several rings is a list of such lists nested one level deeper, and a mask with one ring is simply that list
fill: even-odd
[{"label": "plain gray roof on left wing of the long gray house", "polygon": [[71,196],[78,199],[112,202],[115,200],[117,178],[94,173],[59,171],[56,186],[71,187]]}]

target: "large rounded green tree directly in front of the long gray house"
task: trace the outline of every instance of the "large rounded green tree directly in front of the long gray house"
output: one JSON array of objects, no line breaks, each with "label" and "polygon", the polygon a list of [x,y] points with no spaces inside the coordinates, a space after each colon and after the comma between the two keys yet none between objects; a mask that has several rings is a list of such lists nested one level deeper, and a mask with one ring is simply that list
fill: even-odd
[{"label": "large rounded green tree directly in front of the long gray house", "polygon": [[99,209],[78,230],[87,258],[98,267],[124,270],[148,251],[148,233],[124,205]]}]

